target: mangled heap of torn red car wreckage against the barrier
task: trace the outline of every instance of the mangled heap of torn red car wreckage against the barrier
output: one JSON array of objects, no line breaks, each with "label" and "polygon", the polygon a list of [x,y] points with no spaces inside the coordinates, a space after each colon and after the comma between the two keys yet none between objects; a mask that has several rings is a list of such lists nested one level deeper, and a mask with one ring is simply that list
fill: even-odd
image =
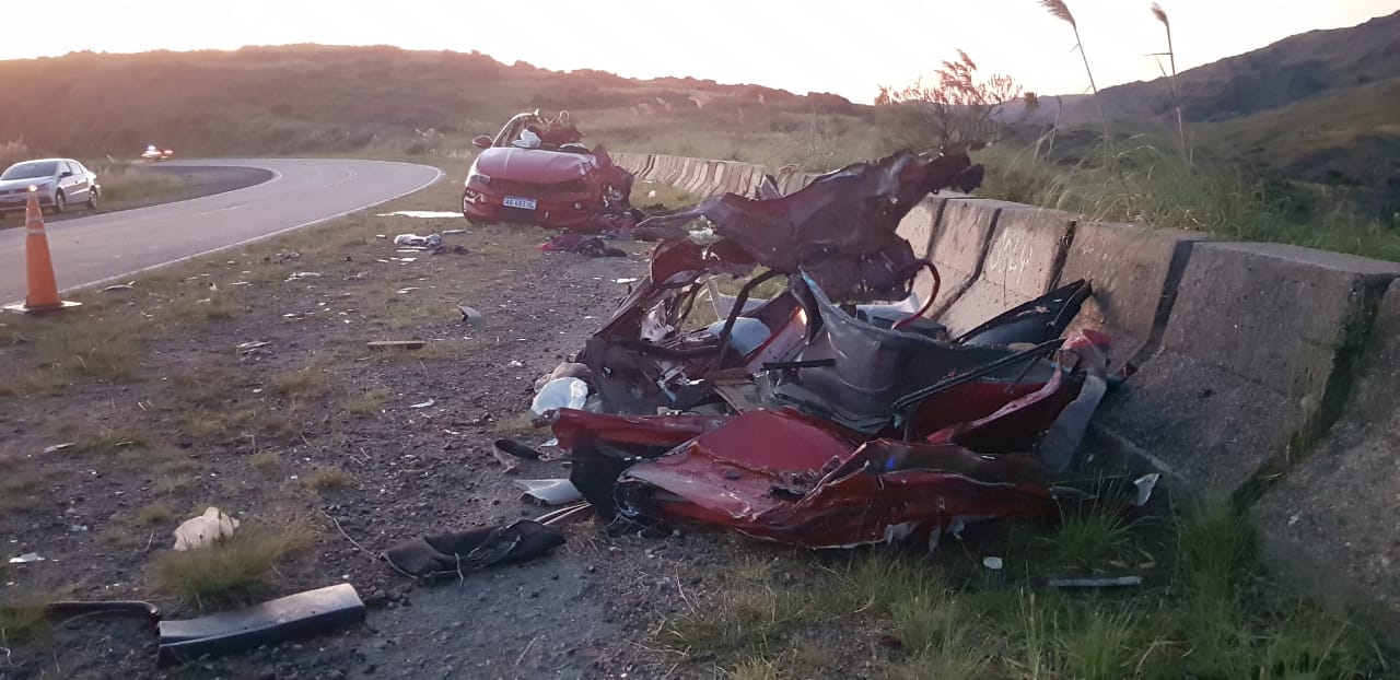
[{"label": "mangled heap of torn red car wreckage against the barrier", "polygon": [[[953,337],[927,316],[937,267],[896,232],[925,194],[980,180],[963,153],[904,151],[787,196],[725,194],[638,224],[638,239],[659,241],[648,276],[587,341],[587,371],[567,371],[568,403],[535,409],[573,488],[608,519],[820,548],[937,544],[969,522],[1053,518],[1088,498],[1060,480],[1107,390],[1112,340],[1068,332],[1089,283]],[[692,238],[699,218],[711,242]],[[729,297],[714,285],[725,276],[749,278]],[[706,295],[720,320],[699,325]]]}]

